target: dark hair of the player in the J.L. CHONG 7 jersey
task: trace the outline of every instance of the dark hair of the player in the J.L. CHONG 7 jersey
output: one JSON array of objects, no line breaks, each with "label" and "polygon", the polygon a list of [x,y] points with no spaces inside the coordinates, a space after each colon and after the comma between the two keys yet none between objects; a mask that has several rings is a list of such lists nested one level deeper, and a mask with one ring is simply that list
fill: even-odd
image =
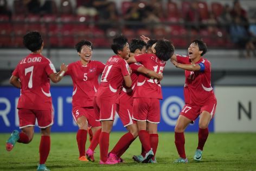
[{"label": "dark hair of the player in the J.L. CHONG 7 jersey", "polygon": [[31,52],[35,52],[41,49],[43,39],[39,32],[31,31],[23,36],[23,44]]}]

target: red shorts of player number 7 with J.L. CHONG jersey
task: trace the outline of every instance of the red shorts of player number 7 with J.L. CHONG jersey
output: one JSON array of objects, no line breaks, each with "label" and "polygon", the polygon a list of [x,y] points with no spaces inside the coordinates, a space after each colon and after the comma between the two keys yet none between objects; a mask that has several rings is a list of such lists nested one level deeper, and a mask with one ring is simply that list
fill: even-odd
[{"label": "red shorts of player number 7 with J.L. CHONG jersey", "polygon": [[18,109],[18,118],[20,128],[35,126],[36,119],[40,128],[47,128],[53,125],[53,110],[28,110],[25,108]]}]

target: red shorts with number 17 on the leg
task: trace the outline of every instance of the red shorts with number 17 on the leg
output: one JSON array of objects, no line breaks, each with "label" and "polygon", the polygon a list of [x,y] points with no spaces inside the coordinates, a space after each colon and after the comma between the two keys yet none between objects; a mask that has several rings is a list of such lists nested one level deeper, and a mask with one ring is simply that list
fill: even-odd
[{"label": "red shorts with number 17 on the leg", "polygon": [[182,111],[180,115],[183,115],[184,117],[190,119],[190,120],[196,120],[197,117],[203,112],[207,111],[212,115],[212,119],[215,114],[217,101],[216,100],[209,100],[202,106],[195,106],[190,104],[185,104],[185,106],[182,108]]}]

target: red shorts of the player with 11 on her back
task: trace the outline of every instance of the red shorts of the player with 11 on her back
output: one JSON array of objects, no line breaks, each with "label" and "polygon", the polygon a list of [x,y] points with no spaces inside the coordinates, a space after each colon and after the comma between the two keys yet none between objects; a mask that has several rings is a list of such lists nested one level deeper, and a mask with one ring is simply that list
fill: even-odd
[{"label": "red shorts of the player with 11 on her back", "polygon": [[114,120],[116,114],[116,101],[104,100],[100,97],[93,98],[93,108],[97,121]]}]

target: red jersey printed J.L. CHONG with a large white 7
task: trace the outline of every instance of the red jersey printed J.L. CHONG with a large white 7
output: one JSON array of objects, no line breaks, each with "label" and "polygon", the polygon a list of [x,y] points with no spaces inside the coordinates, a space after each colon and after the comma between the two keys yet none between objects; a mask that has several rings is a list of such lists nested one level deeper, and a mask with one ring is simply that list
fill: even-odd
[{"label": "red jersey printed J.L. CHONG with a large white 7", "polygon": [[51,110],[49,75],[56,73],[52,62],[41,54],[29,54],[17,65],[12,75],[20,78],[21,95],[17,108]]}]

